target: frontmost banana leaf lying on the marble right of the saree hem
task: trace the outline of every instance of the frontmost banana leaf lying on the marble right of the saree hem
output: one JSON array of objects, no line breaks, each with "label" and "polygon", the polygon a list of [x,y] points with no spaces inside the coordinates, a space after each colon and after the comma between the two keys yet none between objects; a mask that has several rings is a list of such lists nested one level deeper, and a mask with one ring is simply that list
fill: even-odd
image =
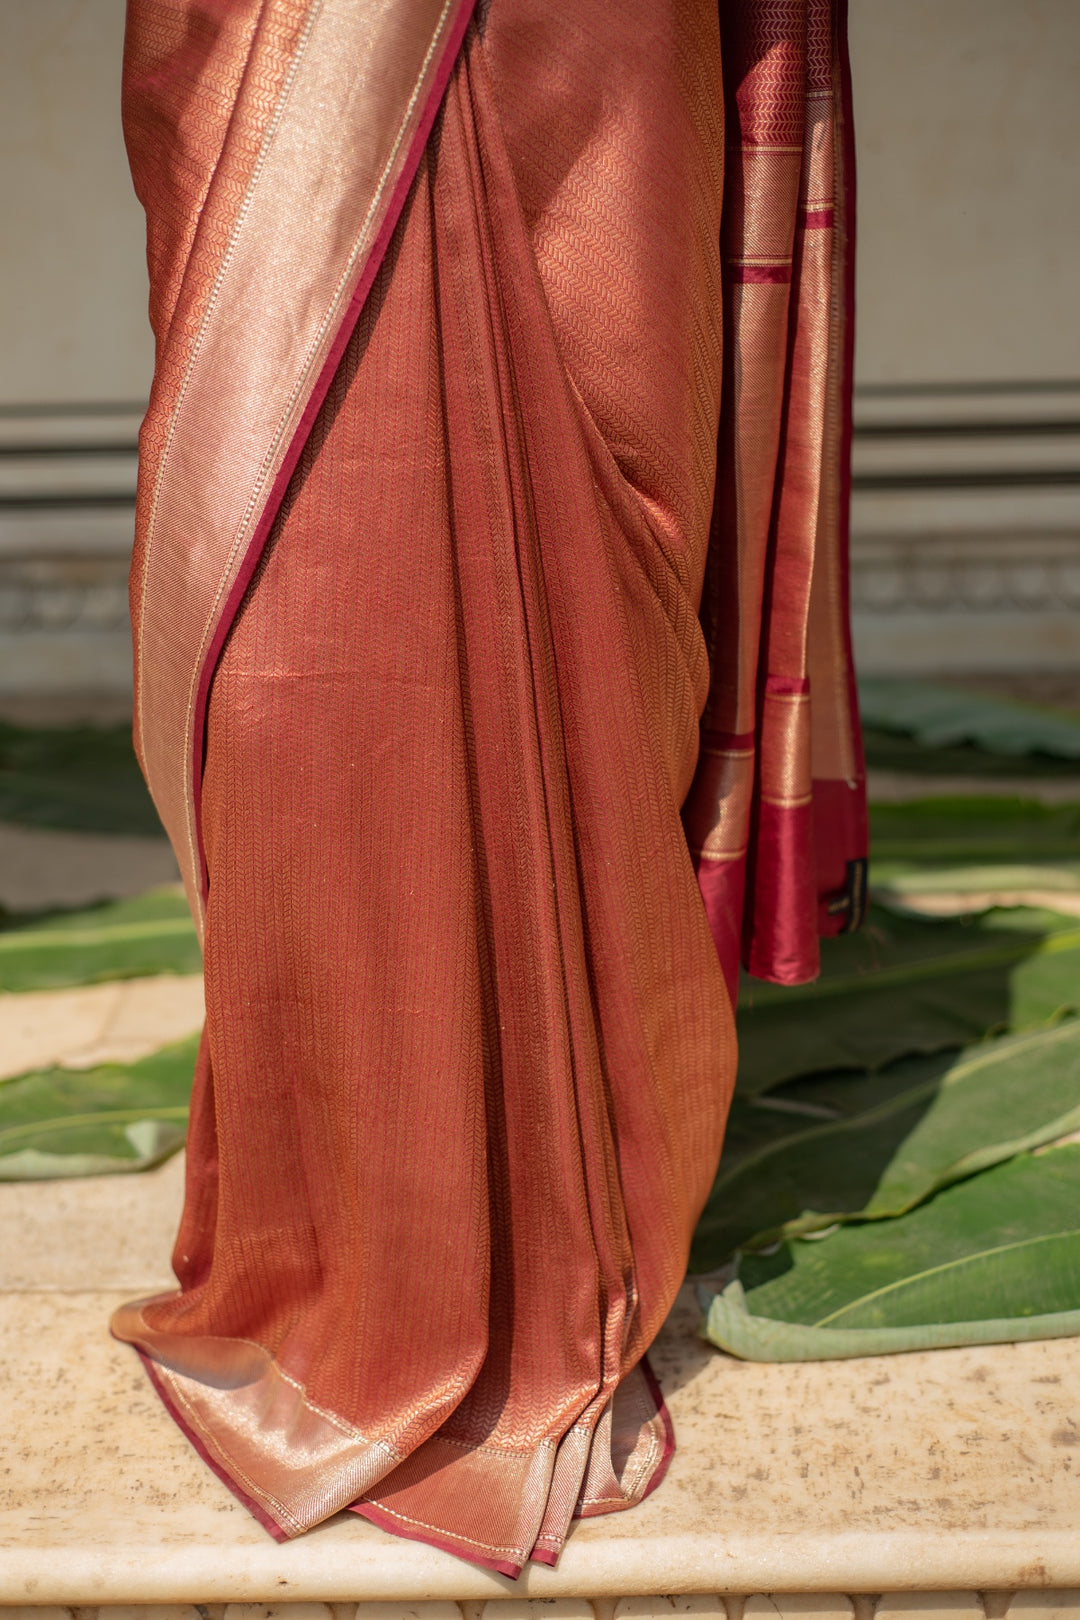
[{"label": "frontmost banana leaf lying on the marble right of the saree hem", "polygon": [[1080,1333],[1080,1147],[1020,1153],[895,1220],[745,1256],[704,1333],[750,1361]]}]

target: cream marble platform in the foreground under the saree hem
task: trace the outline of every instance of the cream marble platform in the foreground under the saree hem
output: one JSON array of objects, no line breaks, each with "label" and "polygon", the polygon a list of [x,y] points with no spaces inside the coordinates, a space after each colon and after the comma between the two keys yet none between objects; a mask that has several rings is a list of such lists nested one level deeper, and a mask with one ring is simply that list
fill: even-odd
[{"label": "cream marble platform in the foreground under the saree hem", "polygon": [[168,1283],[180,1191],[180,1160],[0,1187],[0,1605],[91,1620],[99,1605],[275,1604],[288,1620],[291,1604],[513,1599],[487,1620],[523,1620],[526,1597],[704,1594],[721,1614],[717,1594],[771,1592],[787,1607],[763,1614],[803,1594],[824,1620],[852,1614],[839,1594],[908,1591],[947,1594],[920,1614],[960,1620],[960,1604],[978,1620],[973,1591],[1080,1588],[1080,1343],[751,1366],[696,1338],[688,1296],[656,1351],[678,1437],[669,1477],[631,1513],[578,1524],[555,1570],[515,1584],[353,1515],[277,1545],[107,1335],[117,1302]]}]

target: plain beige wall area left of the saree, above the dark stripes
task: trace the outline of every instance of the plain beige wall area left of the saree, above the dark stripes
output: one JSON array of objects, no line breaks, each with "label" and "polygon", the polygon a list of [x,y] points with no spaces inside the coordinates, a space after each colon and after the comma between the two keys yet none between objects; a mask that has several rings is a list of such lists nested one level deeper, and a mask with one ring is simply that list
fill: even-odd
[{"label": "plain beige wall area left of the saree, above the dark stripes", "polygon": [[0,405],[146,399],[123,0],[0,0]]}]

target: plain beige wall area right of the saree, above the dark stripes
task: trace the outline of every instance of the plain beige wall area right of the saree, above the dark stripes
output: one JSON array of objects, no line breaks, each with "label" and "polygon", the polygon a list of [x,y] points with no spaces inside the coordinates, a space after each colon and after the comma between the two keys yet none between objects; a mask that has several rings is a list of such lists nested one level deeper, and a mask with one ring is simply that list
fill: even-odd
[{"label": "plain beige wall area right of the saree, above the dark stripes", "polygon": [[850,0],[863,382],[1080,377],[1080,0]]}]

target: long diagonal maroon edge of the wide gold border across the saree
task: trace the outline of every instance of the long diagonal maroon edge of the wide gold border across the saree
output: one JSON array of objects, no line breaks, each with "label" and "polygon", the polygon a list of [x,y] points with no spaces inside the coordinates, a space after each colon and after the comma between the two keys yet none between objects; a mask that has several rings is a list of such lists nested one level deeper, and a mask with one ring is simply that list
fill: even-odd
[{"label": "long diagonal maroon edge of the wide gold border across the saree", "polygon": [[337,335],[325,358],[322,371],[319,373],[319,377],[311,390],[311,395],[308,397],[304,413],[300,418],[296,433],[293,434],[288,450],[285,452],[285,460],[282,462],[277,478],[274,480],[270,492],[266,499],[266,505],[262,507],[262,515],[259,517],[259,523],[256,525],[256,530],[251,536],[248,551],[240,565],[240,572],[225,599],[225,606],[222,608],[222,616],[217,622],[210,643],[206,650],[206,656],[202,659],[202,669],[199,671],[199,682],[196,687],[196,700],[194,700],[191,784],[194,799],[194,825],[198,836],[198,849],[199,849],[199,886],[202,889],[204,897],[207,893],[209,873],[206,863],[206,846],[202,839],[202,747],[206,739],[206,710],[210,697],[210,682],[214,679],[214,671],[217,667],[222,646],[225,645],[225,638],[233,625],[233,619],[236,617],[236,612],[240,611],[240,604],[244,598],[248,585],[251,583],[251,577],[254,575],[254,570],[259,565],[259,559],[266,551],[266,543],[270,538],[274,520],[277,518],[282,501],[285,499],[285,491],[288,489],[288,483],[296,470],[296,463],[300,462],[303,447],[308,442],[308,436],[311,434],[316,416],[322,408],[322,402],[325,400],[325,395],[330,389],[330,382],[334,381],[342,355],[345,353],[345,347],[350,337],[353,335],[356,321],[359,319],[359,313],[364,308],[368,293],[371,292],[372,282],[379,272],[379,266],[382,264],[387,248],[390,246],[390,238],[393,237],[402,209],[405,207],[405,199],[413,185],[413,180],[416,178],[416,168],[419,167],[421,154],[424,151],[424,146],[427,144],[427,136],[431,134],[439,107],[442,105],[442,97],[445,96],[447,86],[450,83],[450,75],[453,73],[453,65],[458,58],[458,52],[461,50],[461,44],[465,40],[465,31],[470,24],[474,6],[476,0],[463,0],[461,10],[453,21],[450,34],[447,36],[447,42],[442,52],[442,60],[436,71],[427,96],[427,102],[424,105],[424,112],[421,113],[416,133],[408,149],[405,165],[393,186],[385,219],[379,228],[379,235],[376,237],[371,246],[371,253],[368,254],[368,261],[361,272],[359,282],[356,284],[356,290],[353,292],[353,296],[348,301],[348,306],[342,318],[342,324],[337,330]]}]

